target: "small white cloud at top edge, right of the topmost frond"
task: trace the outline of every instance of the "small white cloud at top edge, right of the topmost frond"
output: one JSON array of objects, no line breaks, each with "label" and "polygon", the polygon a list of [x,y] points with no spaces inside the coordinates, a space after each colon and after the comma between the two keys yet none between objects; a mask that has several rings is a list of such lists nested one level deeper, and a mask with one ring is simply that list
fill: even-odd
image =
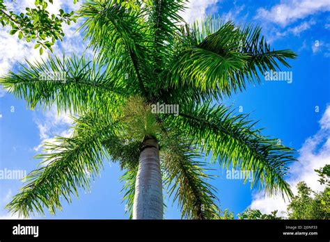
[{"label": "small white cloud at top edge, right of the topmost frond", "polygon": [[[207,14],[214,13],[217,10],[217,3],[219,0],[192,0],[187,3],[188,9],[184,11],[182,17],[188,23],[193,23],[196,19],[204,19]],[[206,14],[206,11],[210,13]]]}]

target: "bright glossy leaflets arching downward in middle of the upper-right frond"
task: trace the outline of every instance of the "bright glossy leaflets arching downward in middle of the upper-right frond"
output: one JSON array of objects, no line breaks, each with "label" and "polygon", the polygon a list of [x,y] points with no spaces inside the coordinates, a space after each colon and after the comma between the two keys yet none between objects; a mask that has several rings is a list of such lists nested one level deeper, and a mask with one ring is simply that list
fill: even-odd
[{"label": "bright glossy leaflets arching downward in middle of the upper-right frond", "polygon": [[244,72],[245,67],[246,56],[239,51],[221,55],[201,47],[186,48],[173,63],[169,86],[193,86],[202,91],[216,90],[219,96],[230,95],[242,87],[242,79],[236,74]]}]

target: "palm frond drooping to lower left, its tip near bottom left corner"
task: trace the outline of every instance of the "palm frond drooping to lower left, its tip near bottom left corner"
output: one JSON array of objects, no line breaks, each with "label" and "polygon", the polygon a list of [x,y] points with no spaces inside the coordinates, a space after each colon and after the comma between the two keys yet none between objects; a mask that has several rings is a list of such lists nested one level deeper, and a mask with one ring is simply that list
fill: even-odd
[{"label": "palm frond drooping to lower left, its tip near bottom left corner", "polygon": [[9,211],[29,217],[35,211],[43,214],[46,207],[55,213],[61,209],[62,199],[71,202],[80,188],[89,188],[107,158],[102,140],[116,137],[116,127],[111,127],[111,122],[96,122],[95,116],[90,119],[94,125],[88,125],[86,120],[76,119],[71,138],[57,137],[54,143],[45,144],[44,154],[36,156],[43,160],[40,168],[26,176],[27,184],[6,206]]}]

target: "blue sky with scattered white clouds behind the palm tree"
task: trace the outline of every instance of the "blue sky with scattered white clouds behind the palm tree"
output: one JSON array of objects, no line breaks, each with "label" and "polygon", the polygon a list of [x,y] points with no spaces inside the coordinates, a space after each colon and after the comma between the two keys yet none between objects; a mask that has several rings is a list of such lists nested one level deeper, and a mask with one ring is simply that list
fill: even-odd
[{"label": "blue sky with scattered white clouds behind the palm tree", "polygon": [[[57,1],[54,11],[63,2]],[[23,8],[24,4],[29,6],[31,1],[22,1],[22,6],[13,8]],[[77,8],[71,3],[63,5]],[[263,134],[279,138],[283,144],[299,150],[300,162],[292,165],[288,176],[292,186],[304,180],[315,190],[322,189],[312,170],[330,163],[329,1],[191,0],[189,7],[184,13],[189,22],[215,14],[237,24],[259,24],[274,49],[297,52],[297,60],[290,61],[292,68],[282,70],[292,72],[292,83],[262,79],[262,85],[249,86],[226,103],[251,113],[251,119],[260,120],[258,127],[265,128]],[[76,27],[65,27],[67,38],[58,43],[55,53],[81,54],[84,47],[79,33],[73,32]],[[7,29],[0,30],[0,43],[0,74],[15,70],[17,61],[24,58],[40,58],[31,45],[17,40],[17,36],[9,36]],[[23,100],[2,90],[0,114],[0,170],[29,172],[35,169],[38,160],[33,159],[33,155],[41,152],[40,144],[52,140],[54,134],[70,134],[65,129],[70,119],[65,115],[57,117],[54,110],[47,113],[28,110]],[[226,179],[225,170],[214,168],[218,170],[212,174],[219,177],[212,184],[217,187],[222,209],[228,208],[234,214],[249,206],[264,212],[285,209],[286,204],[280,197],[264,198],[262,193],[251,191],[249,183],[244,185],[242,180]],[[104,161],[102,176],[93,183],[91,193],[81,191],[79,199],[74,199],[72,204],[63,202],[63,211],[58,211],[56,216],[46,214],[45,218],[128,218],[123,194],[120,194],[123,185],[118,181],[120,175],[116,164]],[[3,206],[21,186],[21,181],[0,179],[0,218],[10,218]],[[167,202],[167,206],[165,218],[180,218],[177,204],[172,207],[172,202]]]}]

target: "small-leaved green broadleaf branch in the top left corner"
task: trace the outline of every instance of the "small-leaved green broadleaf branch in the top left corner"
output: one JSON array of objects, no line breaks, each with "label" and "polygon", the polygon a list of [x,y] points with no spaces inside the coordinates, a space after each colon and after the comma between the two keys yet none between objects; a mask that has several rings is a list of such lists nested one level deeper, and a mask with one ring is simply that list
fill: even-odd
[{"label": "small-leaved green broadleaf branch in the top left corner", "polygon": [[18,32],[19,39],[24,37],[27,42],[36,40],[35,49],[40,47],[40,55],[43,49],[53,51],[54,42],[64,37],[63,24],[77,22],[77,15],[73,11],[65,13],[63,9],[57,15],[51,15],[47,11],[49,4],[53,4],[53,0],[36,0],[35,8],[26,8],[24,13],[14,13],[8,11],[6,4],[0,0],[0,24],[10,26],[10,35]]}]

